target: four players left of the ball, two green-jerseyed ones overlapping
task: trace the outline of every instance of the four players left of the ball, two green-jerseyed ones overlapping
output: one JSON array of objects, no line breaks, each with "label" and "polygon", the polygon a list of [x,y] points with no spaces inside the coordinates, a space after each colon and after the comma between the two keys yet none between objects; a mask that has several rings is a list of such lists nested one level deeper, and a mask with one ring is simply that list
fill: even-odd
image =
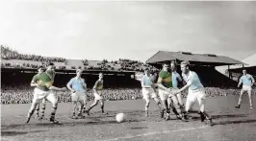
[{"label": "four players left of the ball, two green-jerseyed ones overlapping", "polygon": [[[52,104],[50,122],[58,124],[59,121],[55,119],[55,113],[58,108],[58,96],[55,94],[54,91],[66,91],[66,87],[71,91],[71,99],[73,103],[73,110],[72,110],[72,119],[77,119],[78,117],[85,118],[82,112],[86,112],[90,115],[90,109],[94,106],[97,106],[100,102],[101,111],[104,113],[104,100],[102,97],[102,89],[103,89],[103,74],[99,74],[99,79],[95,82],[93,86],[93,94],[94,94],[94,103],[89,106],[86,110],[85,104],[87,103],[87,84],[81,75],[83,73],[82,69],[76,70],[76,77],[72,78],[67,84],[66,87],[59,88],[53,85],[54,78],[55,78],[55,71],[54,71],[54,63],[49,63],[47,65],[46,70],[43,70],[43,67],[38,67],[38,74],[33,77],[31,82],[31,86],[35,86],[34,90],[34,98],[32,102],[32,106],[29,109],[27,122],[30,122],[30,119],[33,113],[36,110],[37,118],[44,119],[44,111],[45,111],[45,100],[48,100]],[[39,116],[39,104],[42,102],[41,112]],[[78,108],[78,114],[76,115],[76,106],[77,102],[80,103],[80,108]]]}]

